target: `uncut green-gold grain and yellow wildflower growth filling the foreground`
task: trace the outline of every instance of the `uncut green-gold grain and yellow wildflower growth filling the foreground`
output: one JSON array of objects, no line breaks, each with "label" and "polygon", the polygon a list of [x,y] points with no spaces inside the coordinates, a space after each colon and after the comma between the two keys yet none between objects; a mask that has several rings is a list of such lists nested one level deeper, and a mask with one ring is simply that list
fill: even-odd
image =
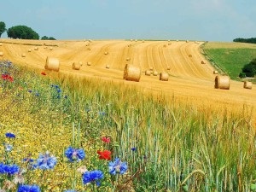
[{"label": "uncut green-gold grain and yellow wildflower growth filling the foreground", "polygon": [[[1,81],[1,136],[8,130],[23,130],[20,141],[29,145],[32,157],[43,149],[58,157],[59,166],[47,173],[47,180],[40,172],[32,175],[44,191],[63,191],[74,185],[73,178],[67,179],[73,166],[67,165],[63,155],[73,134],[79,135],[76,145],[86,152],[80,165],[104,172],[97,191],[249,192],[250,183],[255,183],[252,108],[237,107],[230,112],[199,107],[189,101],[177,102],[174,96],[143,95],[125,84],[48,73],[52,79],[26,68],[9,73],[15,82]],[[51,84],[60,86],[61,98]],[[27,90],[33,90],[32,94]],[[111,145],[102,145],[101,136],[111,137]],[[16,141],[17,148],[23,145],[20,141]],[[118,183],[109,176],[108,162],[98,160],[97,149],[109,149],[113,158],[128,162],[129,170],[119,176]],[[17,158],[13,160],[18,164]],[[58,183],[60,179],[65,182]],[[79,183],[78,179],[79,191],[96,191],[92,185]]]}]

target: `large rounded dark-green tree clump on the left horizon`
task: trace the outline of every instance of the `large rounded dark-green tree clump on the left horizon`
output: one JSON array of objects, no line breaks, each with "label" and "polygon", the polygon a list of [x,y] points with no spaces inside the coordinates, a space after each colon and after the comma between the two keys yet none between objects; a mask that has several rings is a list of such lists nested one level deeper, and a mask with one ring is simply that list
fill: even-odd
[{"label": "large rounded dark-green tree clump on the left horizon", "polygon": [[28,26],[12,26],[7,30],[9,38],[39,39],[37,32]]}]

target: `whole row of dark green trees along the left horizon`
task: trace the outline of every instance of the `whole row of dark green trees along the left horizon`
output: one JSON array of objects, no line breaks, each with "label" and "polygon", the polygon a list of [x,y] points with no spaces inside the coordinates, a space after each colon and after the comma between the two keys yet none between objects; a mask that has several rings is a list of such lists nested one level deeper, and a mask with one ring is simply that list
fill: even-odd
[{"label": "whole row of dark green trees along the left horizon", "polygon": [[[0,21],[0,38],[3,32],[7,32],[8,38],[20,38],[20,39],[36,39],[38,40],[40,37],[38,32],[32,30],[31,27],[28,26],[12,26],[9,29],[6,28],[6,25],[3,21]],[[56,40],[52,37],[43,36],[41,40]]]}]

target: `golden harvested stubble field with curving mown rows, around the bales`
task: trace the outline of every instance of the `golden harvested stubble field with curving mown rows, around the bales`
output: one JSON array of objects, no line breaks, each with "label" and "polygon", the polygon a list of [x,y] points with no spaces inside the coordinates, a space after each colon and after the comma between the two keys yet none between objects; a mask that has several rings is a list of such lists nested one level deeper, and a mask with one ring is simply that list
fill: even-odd
[{"label": "golden harvested stubble field with curving mown rows, around the bales", "polygon": [[[172,46],[164,48],[166,42],[145,41],[131,42],[125,40],[101,40],[91,41],[89,51],[84,41],[46,41],[54,47],[53,50],[40,49],[44,47],[42,41],[35,40],[10,40],[2,39],[3,45],[0,51],[4,52],[3,59],[8,59],[17,64],[35,67],[44,70],[47,56],[58,58],[61,62],[59,73],[73,73],[87,78],[99,78],[111,80],[121,84],[134,84],[145,92],[177,96],[181,99],[191,100],[194,103],[207,103],[210,106],[224,104],[235,108],[237,104],[249,104],[256,107],[256,92],[243,89],[242,82],[230,81],[230,90],[214,89],[215,70],[201,55],[200,46],[203,42],[172,41]],[[8,44],[6,44],[8,43]],[[45,41],[44,41],[45,43]],[[131,46],[128,46],[131,44]],[[241,46],[241,44],[239,44]],[[39,51],[34,51],[35,46]],[[213,45],[212,45],[213,46]],[[224,44],[224,46],[236,46],[236,44]],[[244,46],[248,46],[245,44]],[[26,55],[26,60],[20,59],[20,55],[32,49],[32,53]],[[104,53],[108,51],[108,56]],[[188,57],[193,55],[193,57]],[[131,61],[126,61],[126,58]],[[70,63],[90,61],[90,67],[73,70]],[[205,61],[205,65],[201,65]],[[106,63],[111,63],[111,68],[106,70]],[[166,72],[167,67],[169,81],[161,82],[159,79],[142,75],[140,82],[124,81],[123,73],[127,63],[141,67],[142,72],[154,67],[158,72]],[[217,104],[216,104],[217,103]],[[228,105],[226,105],[228,104]]]}]

